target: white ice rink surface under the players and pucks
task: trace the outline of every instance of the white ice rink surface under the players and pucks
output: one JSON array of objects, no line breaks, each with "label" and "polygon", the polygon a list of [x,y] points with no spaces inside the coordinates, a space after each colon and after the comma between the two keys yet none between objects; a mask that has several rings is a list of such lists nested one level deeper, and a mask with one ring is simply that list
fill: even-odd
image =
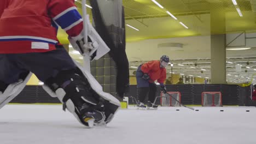
[{"label": "white ice rink surface under the players and pucks", "polygon": [[131,106],[120,110],[107,127],[89,129],[62,111],[61,105],[7,105],[0,110],[0,143],[256,143],[255,107],[195,109],[199,111]]}]

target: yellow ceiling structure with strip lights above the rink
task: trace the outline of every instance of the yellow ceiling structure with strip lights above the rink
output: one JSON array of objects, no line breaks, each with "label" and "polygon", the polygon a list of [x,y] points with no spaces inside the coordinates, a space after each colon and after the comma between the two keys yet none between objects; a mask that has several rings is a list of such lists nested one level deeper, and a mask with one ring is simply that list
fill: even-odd
[{"label": "yellow ceiling structure with strip lights above the rink", "polygon": [[[256,29],[255,0],[156,0],[161,9],[151,0],[123,0],[126,23],[136,27],[135,31],[126,27],[126,40],[189,37],[194,35],[222,34],[236,31],[254,32]],[[80,10],[81,4],[75,2]],[[89,3],[88,3],[89,4]],[[241,10],[243,16],[237,13]],[[178,20],[174,20],[166,11]],[[88,13],[91,14],[90,9]],[[184,28],[179,22],[183,22]],[[63,30],[58,33],[61,43],[67,44]]]}]

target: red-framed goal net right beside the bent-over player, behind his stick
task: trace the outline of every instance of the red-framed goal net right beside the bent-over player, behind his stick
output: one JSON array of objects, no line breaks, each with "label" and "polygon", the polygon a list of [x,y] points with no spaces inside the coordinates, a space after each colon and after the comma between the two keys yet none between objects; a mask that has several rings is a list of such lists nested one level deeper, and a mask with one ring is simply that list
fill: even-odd
[{"label": "red-framed goal net right beside the bent-over player, behind his stick", "polygon": [[[180,92],[167,92],[167,93],[168,94],[161,93],[161,97],[160,97],[161,106],[181,106]],[[177,100],[179,101],[179,103]]]}]

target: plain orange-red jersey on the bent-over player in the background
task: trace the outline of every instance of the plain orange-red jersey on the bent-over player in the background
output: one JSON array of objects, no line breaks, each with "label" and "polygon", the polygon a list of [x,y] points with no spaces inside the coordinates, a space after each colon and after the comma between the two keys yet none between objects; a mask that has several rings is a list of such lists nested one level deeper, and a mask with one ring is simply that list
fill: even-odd
[{"label": "plain orange-red jersey on the bent-over player in the background", "polygon": [[143,71],[143,73],[149,75],[149,82],[154,82],[155,80],[158,80],[159,83],[164,83],[166,79],[166,69],[160,68],[159,61],[150,61],[144,63],[141,66],[141,70]]}]

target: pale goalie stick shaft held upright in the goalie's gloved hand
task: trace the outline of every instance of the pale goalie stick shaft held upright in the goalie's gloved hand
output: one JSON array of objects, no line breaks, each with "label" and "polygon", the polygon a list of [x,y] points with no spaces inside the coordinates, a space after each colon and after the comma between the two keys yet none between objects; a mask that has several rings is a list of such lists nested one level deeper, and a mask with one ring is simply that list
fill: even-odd
[{"label": "pale goalie stick shaft held upright in the goalie's gloved hand", "polygon": [[[89,17],[87,15],[87,11],[86,11],[86,0],[82,0],[82,13],[83,13],[83,26],[84,26],[84,44],[87,44],[88,43],[88,27],[86,25],[86,21],[89,20]],[[87,70],[87,71],[91,71],[91,58],[90,56],[88,55],[87,52],[84,52],[84,70]]]}]

